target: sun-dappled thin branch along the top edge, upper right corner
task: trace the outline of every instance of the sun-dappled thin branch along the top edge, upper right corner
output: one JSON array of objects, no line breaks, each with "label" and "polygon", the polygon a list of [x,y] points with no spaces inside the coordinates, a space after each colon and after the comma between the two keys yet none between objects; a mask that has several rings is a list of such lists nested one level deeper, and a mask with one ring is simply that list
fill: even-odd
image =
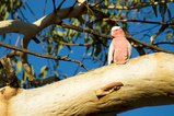
[{"label": "sun-dappled thin branch along the top edge, upper right corner", "polygon": [[124,5],[95,5],[94,3],[89,4],[89,7],[95,7],[95,8],[101,8],[101,9],[117,9],[117,10],[134,10],[134,9],[140,9],[140,8],[146,8],[146,7],[151,7],[151,5],[158,5],[158,4],[163,4],[166,2],[173,2],[174,0],[162,0],[162,1],[155,1],[155,2],[149,2],[149,3],[143,3],[143,4],[137,4],[134,7],[124,7]]}]

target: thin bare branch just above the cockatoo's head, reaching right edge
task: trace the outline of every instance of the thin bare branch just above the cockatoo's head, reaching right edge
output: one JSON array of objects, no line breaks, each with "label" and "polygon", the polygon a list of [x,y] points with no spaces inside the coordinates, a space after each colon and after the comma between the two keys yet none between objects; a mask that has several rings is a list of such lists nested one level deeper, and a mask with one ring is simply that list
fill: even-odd
[{"label": "thin bare branch just above the cockatoo's head, reaching right edge", "polygon": [[103,21],[115,21],[115,22],[140,22],[140,23],[150,23],[150,24],[174,25],[174,23],[166,23],[166,22],[151,22],[151,21],[141,21],[141,20],[103,19]]}]

